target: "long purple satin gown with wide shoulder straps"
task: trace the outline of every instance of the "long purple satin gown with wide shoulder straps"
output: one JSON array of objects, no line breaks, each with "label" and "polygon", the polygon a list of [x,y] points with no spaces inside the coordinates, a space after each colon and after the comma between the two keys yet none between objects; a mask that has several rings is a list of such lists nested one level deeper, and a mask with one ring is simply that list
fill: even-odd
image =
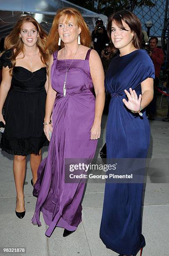
[{"label": "long purple satin gown with wide shoulder straps", "polygon": [[[49,226],[46,235],[51,236],[54,228],[76,230],[82,220],[80,204],[85,184],[65,183],[67,158],[93,159],[97,140],[90,139],[94,121],[95,97],[89,68],[89,55],[85,60],[74,59],[67,74],[66,97],[63,85],[66,74],[65,60],[53,54],[51,68],[52,88],[57,92],[53,106],[53,131],[48,156],[42,160],[33,195],[37,197],[32,223],[40,226],[40,211]],[[71,59],[67,59],[67,67]]]}]

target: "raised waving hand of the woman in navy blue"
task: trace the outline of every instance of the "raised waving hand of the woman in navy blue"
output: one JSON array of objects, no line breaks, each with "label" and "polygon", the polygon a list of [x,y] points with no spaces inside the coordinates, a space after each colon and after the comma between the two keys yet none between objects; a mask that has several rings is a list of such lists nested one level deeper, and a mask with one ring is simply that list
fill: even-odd
[{"label": "raised waving hand of the woman in navy blue", "polygon": [[139,98],[135,92],[135,90],[132,90],[132,88],[129,88],[129,92],[127,90],[124,90],[124,92],[127,95],[128,101],[126,99],[123,99],[123,103],[126,105],[126,107],[129,110],[133,111],[139,111],[140,110],[140,105],[141,105],[141,100],[142,100],[142,95],[139,95]]}]

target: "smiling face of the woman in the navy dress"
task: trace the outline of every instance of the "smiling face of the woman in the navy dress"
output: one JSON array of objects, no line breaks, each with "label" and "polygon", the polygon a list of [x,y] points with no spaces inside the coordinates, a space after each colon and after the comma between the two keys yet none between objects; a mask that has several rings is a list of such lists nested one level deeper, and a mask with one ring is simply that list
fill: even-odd
[{"label": "smiling face of the woman in the navy dress", "polygon": [[129,49],[133,47],[132,38],[134,33],[129,26],[122,20],[122,24],[126,30],[119,28],[118,24],[112,20],[112,43],[117,49]]}]

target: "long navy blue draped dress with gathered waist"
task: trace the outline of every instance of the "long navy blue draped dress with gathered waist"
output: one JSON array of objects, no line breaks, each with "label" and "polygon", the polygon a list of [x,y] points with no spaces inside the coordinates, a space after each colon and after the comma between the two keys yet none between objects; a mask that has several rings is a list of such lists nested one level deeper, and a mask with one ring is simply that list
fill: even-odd
[{"label": "long navy blue draped dress with gathered waist", "polygon": [[[107,120],[107,158],[146,158],[150,127],[145,109],[143,116],[128,110],[122,99],[128,100],[124,89],[131,87],[141,94],[141,82],[154,78],[154,65],[145,50],[138,49],[112,59],[105,77],[105,87],[111,93]],[[142,235],[143,183],[106,183],[100,227],[100,238],[113,251],[136,254],[145,246]]]}]

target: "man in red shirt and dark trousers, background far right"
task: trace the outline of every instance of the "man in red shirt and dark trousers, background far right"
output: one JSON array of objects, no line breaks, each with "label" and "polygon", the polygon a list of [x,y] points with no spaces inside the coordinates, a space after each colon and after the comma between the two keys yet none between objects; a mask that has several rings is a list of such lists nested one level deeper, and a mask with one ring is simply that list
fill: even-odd
[{"label": "man in red shirt and dark trousers, background far right", "polygon": [[159,84],[159,74],[161,66],[164,62],[164,54],[162,49],[157,48],[158,38],[156,36],[152,36],[149,39],[149,48],[147,52],[152,59],[155,68],[155,79],[154,79],[154,97],[152,102],[147,107],[147,115],[149,120],[154,120],[154,116],[156,114],[156,101],[157,101],[157,89],[155,87]]}]

